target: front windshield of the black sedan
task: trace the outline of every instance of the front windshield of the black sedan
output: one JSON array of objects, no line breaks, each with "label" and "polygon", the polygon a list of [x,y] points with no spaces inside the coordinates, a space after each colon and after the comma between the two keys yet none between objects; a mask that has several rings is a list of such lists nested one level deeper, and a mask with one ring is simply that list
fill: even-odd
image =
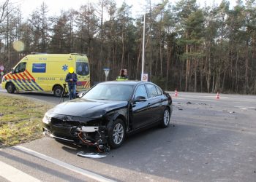
[{"label": "front windshield of the black sedan", "polygon": [[97,100],[129,100],[132,95],[132,85],[127,84],[97,84],[86,95],[85,99]]}]

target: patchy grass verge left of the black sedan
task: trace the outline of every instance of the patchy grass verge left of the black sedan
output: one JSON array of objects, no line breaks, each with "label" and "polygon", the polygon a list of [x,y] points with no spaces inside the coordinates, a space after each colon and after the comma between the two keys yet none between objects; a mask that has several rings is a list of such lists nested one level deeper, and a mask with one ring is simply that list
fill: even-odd
[{"label": "patchy grass verge left of the black sedan", "polygon": [[42,117],[53,105],[0,93],[0,148],[42,138]]}]

